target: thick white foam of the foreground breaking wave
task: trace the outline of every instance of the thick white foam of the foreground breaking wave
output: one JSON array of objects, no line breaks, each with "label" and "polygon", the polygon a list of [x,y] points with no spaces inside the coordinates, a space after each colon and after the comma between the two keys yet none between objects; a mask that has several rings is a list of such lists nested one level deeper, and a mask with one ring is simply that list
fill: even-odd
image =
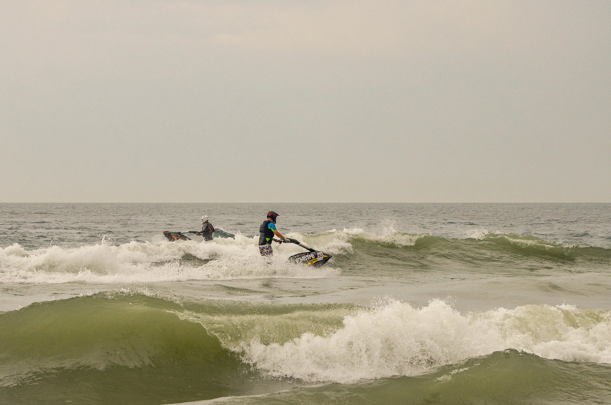
[{"label": "thick white foam of the foreground breaking wave", "polygon": [[421,374],[504,349],[549,359],[611,363],[611,318],[574,307],[531,305],[466,315],[440,300],[422,308],[388,300],[344,319],[326,336],[241,347],[271,376],[356,382]]}]

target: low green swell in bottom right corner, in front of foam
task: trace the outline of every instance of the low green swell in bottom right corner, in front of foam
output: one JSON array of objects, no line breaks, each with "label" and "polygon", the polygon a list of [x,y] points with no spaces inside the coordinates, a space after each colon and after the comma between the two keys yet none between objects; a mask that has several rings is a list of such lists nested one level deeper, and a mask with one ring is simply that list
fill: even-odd
[{"label": "low green swell in bottom right corner, in front of foam", "polygon": [[584,404],[611,402],[611,366],[544,359],[513,349],[421,376],[296,387],[219,404]]}]

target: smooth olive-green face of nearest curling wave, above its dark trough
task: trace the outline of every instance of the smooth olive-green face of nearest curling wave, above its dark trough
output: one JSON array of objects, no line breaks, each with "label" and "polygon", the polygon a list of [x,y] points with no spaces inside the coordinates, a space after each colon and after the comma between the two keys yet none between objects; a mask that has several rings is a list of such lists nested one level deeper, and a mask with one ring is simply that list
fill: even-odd
[{"label": "smooth olive-green face of nearest curling wave, above its dark trough", "polygon": [[40,302],[0,314],[0,376],[54,368],[141,367],[159,355],[225,351],[202,325],[172,313],[168,300],[100,293]]}]

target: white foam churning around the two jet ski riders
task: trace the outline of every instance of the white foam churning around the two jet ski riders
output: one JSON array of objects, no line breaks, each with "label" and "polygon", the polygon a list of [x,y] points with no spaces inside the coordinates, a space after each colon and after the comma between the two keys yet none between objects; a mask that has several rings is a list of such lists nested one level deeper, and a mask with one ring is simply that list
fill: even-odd
[{"label": "white foam churning around the two jet ski riders", "polygon": [[[327,243],[330,246],[343,244],[332,239]],[[274,260],[268,264],[260,256],[255,238],[241,235],[235,239],[214,239],[213,242],[133,241],[118,246],[102,240],[94,245],[51,246],[31,251],[14,244],[0,248],[0,282],[142,283],[262,277],[320,278],[337,274],[331,266],[313,269],[288,263],[285,260],[288,256],[304,251],[296,245],[276,245],[274,250]]]}]

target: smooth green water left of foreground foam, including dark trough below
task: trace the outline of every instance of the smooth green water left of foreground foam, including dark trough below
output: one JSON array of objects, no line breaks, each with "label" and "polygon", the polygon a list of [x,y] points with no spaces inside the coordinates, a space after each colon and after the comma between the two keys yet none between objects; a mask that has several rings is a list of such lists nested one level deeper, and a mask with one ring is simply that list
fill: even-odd
[{"label": "smooth green water left of foreground foam, including dark trough below", "polygon": [[290,386],[181,311],[172,299],[108,292],[0,313],[0,403],[182,402]]}]

